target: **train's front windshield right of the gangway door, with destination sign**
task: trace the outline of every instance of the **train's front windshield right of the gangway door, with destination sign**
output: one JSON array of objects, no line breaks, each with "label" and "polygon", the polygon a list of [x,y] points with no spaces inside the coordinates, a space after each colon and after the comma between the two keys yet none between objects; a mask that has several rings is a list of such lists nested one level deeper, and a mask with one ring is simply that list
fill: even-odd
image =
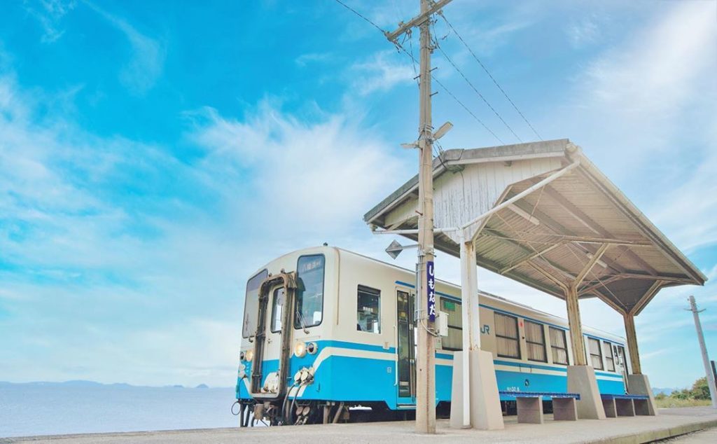
[{"label": "train's front windshield right of the gangway door, with destination sign", "polygon": [[318,326],[323,320],[323,255],[302,256],[297,265],[296,316],[294,328]]}]

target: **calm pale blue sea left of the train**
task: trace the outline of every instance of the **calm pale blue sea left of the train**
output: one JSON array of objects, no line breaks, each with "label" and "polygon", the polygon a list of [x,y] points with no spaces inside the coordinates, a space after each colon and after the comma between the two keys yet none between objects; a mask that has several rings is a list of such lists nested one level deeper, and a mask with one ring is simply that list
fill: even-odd
[{"label": "calm pale blue sea left of the train", "polygon": [[236,427],[235,400],[233,387],[0,382],[0,438]]}]

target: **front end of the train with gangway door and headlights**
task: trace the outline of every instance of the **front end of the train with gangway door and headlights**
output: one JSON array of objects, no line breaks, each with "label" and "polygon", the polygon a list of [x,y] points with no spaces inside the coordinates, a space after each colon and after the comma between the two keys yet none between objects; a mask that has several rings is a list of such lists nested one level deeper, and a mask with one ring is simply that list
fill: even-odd
[{"label": "front end of the train with gangway door and headlights", "polygon": [[321,339],[331,337],[326,313],[333,301],[324,296],[336,292],[336,280],[327,278],[337,274],[335,254],[326,248],[290,253],[248,281],[236,390],[242,412],[251,409],[276,424],[295,407],[285,402],[289,396],[316,399],[319,389],[331,392],[330,381],[323,387],[310,382],[331,342]]}]

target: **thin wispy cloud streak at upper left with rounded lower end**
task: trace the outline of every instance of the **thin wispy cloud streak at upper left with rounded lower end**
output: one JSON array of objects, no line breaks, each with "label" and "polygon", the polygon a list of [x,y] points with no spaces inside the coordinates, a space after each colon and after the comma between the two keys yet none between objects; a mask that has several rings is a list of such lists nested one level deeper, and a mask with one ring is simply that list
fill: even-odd
[{"label": "thin wispy cloud streak at upper left with rounded lower end", "polygon": [[128,39],[132,54],[127,65],[120,72],[120,82],[135,94],[146,93],[162,74],[166,58],[164,44],[158,39],[142,34],[125,19],[110,14],[90,1],[85,1],[85,4],[103,16]]}]

